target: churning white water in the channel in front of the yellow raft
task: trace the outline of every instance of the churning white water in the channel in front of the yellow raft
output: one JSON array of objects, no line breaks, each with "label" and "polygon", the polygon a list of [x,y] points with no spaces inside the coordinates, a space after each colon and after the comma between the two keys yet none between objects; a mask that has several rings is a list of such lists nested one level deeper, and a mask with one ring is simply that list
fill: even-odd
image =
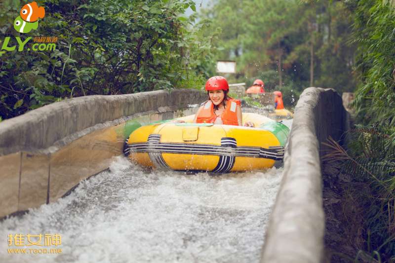
[{"label": "churning white water in the channel in front of the yellow raft", "polygon": [[[259,262],[282,168],[210,176],[118,157],[69,196],[0,222],[0,262]],[[61,254],[9,254],[7,235],[60,234]]]}]

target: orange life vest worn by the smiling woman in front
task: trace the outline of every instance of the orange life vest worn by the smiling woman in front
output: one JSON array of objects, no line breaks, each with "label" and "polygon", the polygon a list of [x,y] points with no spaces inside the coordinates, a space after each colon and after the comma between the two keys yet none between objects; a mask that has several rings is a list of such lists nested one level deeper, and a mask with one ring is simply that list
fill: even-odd
[{"label": "orange life vest worn by the smiling woman in front", "polygon": [[[240,105],[239,100],[228,99],[226,101],[225,111],[221,114],[222,123],[226,125],[238,125],[237,121],[237,105]],[[197,123],[214,123],[217,115],[214,113],[214,104],[211,100],[204,103],[199,115],[197,115]]]}]

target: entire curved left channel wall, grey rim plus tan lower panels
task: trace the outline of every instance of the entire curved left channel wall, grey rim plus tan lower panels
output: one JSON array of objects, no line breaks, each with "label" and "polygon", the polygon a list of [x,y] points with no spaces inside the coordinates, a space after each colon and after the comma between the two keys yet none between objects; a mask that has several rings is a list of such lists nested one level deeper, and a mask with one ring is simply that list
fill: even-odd
[{"label": "entire curved left channel wall, grey rim plus tan lower panels", "polygon": [[191,89],[86,96],[0,122],[0,218],[53,202],[107,169],[130,121],[191,114],[188,105],[206,97]]}]

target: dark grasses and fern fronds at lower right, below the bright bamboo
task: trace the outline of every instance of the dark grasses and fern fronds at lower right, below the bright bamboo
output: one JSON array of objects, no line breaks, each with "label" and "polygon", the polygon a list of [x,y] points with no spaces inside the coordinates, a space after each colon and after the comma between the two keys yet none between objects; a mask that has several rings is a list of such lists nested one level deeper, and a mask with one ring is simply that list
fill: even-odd
[{"label": "dark grasses and fern fronds at lower right, below the bright bamboo", "polygon": [[365,188],[355,191],[354,199],[363,208],[361,253],[382,262],[395,260],[395,140],[391,129],[357,125],[349,133],[348,150],[333,140],[326,144],[333,151],[325,160],[342,160],[344,173]]}]

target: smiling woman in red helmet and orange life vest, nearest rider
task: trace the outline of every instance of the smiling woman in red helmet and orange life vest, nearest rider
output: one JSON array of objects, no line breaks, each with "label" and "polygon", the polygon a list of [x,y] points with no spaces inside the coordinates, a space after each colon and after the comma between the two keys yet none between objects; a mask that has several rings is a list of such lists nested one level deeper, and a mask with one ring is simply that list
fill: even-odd
[{"label": "smiling woman in red helmet and orange life vest, nearest rider", "polygon": [[[197,110],[195,123],[242,126],[240,101],[228,97],[229,84],[223,76],[210,77],[205,85],[208,100]],[[253,127],[252,122],[245,126]]]}]

